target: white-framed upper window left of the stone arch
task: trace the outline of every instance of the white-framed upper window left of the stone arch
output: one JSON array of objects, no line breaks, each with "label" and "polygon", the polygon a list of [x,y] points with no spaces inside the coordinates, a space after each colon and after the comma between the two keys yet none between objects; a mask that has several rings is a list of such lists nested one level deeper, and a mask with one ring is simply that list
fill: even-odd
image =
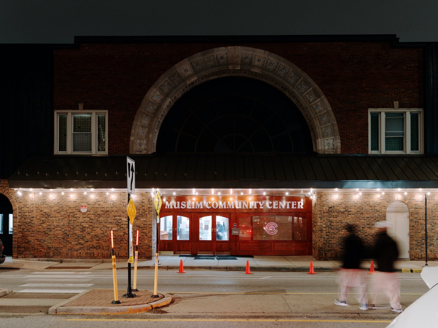
[{"label": "white-framed upper window left of the stone arch", "polygon": [[55,111],[54,154],[108,154],[108,111]]}]

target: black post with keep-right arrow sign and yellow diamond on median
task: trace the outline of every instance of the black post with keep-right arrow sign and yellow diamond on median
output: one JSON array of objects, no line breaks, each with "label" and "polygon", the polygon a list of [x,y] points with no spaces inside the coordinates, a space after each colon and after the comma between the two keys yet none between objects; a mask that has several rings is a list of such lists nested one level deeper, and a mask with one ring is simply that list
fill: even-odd
[{"label": "black post with keep-right arrow sign and yellow diamond on median", "polygon": [[128,290],[123,297],[136,297],[137,295],[132,293],[131,288],[131,263],[134,263],[134,250],[132,248],[132,224],[134,223],[135,209],[134,201],[131,199],[131,194],[135,194],[135,162],[129,157],[126,157],[126,178],[127,178],[127,192],[128,192]]}]

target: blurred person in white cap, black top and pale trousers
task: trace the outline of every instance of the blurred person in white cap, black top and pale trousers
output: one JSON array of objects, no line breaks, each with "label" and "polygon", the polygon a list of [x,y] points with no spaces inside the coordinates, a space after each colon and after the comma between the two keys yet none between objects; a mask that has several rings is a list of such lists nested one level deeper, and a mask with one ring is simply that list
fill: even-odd
[{"label": "blurred person in white cap, black top and pale trousers", "polygon": [[386,234],[388,222],[381,221],[374,224],[378,229],[378,238],[374,245],[373,257],[376,262],[374,277],[370,289],[370,309],[377,309],[376,296],[382,290],[389,298],[391,311],[403,312],[400,305],[400,282],[399,273],[394,269],[394,262],[399,256],[396,242]]}]

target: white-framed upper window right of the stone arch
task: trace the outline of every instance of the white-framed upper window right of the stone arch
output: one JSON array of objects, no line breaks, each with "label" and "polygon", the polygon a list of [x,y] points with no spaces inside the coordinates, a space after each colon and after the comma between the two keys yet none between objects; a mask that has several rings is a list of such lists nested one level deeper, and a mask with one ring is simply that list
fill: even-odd
[{"label": "white-framed upper window right of the stone arch", "polygon": [[368,109],[369,154],[422,154],[423,109]]}]

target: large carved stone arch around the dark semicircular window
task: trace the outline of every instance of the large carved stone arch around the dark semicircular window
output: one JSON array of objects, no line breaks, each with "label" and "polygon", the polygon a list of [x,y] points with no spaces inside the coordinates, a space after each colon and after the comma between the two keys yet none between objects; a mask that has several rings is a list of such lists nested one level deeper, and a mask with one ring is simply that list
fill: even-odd
[{"label": "large carved stone arch around the dark semicircular window", "polygon": [[307,121],[314,151],[319,154],[341,152],[339,131],[329,101],[306,73],[290,61],[265,50],[230,46],[188,57],[155,82],[135,115],[130,154],[155,151],[161,123],[182,94],[202,82],[236,75],[262,80],[286,94]]}]

